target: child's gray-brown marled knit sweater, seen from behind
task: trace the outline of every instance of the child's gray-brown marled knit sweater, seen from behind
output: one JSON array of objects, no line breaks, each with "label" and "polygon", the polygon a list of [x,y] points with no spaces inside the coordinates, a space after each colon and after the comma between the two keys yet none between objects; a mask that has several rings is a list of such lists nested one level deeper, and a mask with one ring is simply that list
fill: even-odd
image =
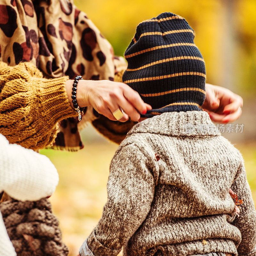
[{"label": "child's gray-brown marled knit sweater, seen from behind", "polygon": [[[190,129],[189,129],[190,128]],[[204,111],[136,124],[110,164],[108,201],[80,255],[256,255],[256,217],[240,152]],[[242,199],[235,215],[231,188]]]}]

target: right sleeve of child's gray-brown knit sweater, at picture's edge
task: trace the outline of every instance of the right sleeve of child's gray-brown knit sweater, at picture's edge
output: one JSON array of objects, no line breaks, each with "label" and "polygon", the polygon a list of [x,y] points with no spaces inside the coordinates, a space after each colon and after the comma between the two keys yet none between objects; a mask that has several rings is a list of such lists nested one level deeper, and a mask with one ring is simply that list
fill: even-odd
[{"label": "right sleeve of child's gray-brown knit sweater, at picture's edge", "polygon": [[238,199],[244,201],[240,207],[239,217],[232,223],[241,232],[242,241],[237,248],[238,256],[256,255],[256,212],[252,199],[250,186],[246,178],[244,163],[238,169],[240,174],[232,184],[231,189],[237,194]]}]

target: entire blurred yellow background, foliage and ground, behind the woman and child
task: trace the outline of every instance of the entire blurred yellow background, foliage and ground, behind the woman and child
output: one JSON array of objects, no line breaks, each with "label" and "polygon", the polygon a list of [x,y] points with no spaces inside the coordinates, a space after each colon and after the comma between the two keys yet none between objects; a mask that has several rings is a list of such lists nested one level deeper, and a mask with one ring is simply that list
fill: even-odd
[{"label": "entire blurred yellow background, foliage and ground, behind the woman and child", "polygon": [[[207,82],[231,89],[244,98],[243,133],[224,133],[237,142],[244,155],[248,180],[256,200],[256,1],[255,0],[76,0],[77,7],[123,55],[138,23],[161,12],[184,17],[195,30],[202,52]],[[55,164],[60,183],[50,198],[60,219],[70,256],[100,219],[107,199],[108,166],[117,145],[103,139],[92,127],[83,132],[85,148],[76,153],[42,150]]]}]

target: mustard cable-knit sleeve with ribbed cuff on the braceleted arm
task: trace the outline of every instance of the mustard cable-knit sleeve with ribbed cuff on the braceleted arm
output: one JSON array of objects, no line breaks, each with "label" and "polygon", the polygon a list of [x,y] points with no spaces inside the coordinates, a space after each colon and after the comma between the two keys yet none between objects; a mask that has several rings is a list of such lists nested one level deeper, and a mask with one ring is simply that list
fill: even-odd
[{"label": "mustard cable-knit sleeve with ribbed cuff on the braceleted arm", "polygon": [[0,62],[0,133],[34,150],[55,139],[57,123],[77,113],[65,90],[67,76],[46,79],[31,63]]}]

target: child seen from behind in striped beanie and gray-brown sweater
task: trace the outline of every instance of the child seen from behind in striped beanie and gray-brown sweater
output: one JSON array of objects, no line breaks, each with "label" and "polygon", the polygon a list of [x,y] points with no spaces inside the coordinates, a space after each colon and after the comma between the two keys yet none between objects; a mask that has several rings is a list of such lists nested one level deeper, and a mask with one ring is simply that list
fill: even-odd
[{"label": "child seen from behind in striped beanie and gray-brown sweater", "polygon": [[[163,13],[137,27],[123,81],[152,106],[110,164],[108,201],[81,256],[256,255],[243,157],[202,111],[194,31]],[[240,205],[239,205],[240,204]]]}]

